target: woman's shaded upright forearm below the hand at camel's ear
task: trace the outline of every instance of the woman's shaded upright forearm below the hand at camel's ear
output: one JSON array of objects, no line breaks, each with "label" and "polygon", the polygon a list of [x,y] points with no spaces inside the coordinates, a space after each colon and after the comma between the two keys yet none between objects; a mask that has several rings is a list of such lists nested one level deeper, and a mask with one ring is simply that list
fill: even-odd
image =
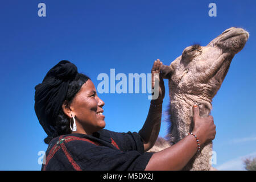
[{"label": "woman's shaded upright forearm below the hand at camel's ear", "polygon": [[144,151],[150,150],[160,131],[162,119],[162,105],[152,106],[148,110],[147,119],[144,122],[142,129],[139,131],[142,139],[144,140]]}]

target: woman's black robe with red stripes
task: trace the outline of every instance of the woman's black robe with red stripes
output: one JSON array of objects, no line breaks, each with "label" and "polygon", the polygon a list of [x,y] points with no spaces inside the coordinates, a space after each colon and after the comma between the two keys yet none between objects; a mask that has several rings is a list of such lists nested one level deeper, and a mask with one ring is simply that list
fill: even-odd
[{"label": "woman's black robe with red stripes", "polygon": [[102,129],[93,136],[68,134],[52,139],[42,170],[142,171],[151,156],[144,152],[138,133]]}]

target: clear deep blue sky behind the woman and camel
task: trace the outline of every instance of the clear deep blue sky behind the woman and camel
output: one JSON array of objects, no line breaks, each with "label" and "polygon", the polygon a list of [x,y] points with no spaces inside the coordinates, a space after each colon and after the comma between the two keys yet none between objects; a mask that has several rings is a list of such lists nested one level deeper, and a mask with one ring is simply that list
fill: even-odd
[{"label": "clear deep blue sky behind the woman and camel", "polygon": [[[46,4],[46,17],[38,4]],[[217,16],[208,15],[209,3]],[[183,49],[206,46],[229,27],[250,38],[213,98],[217,126],[213,150],[222,170],[243,169],[256,156],[255,1],[3,1],[0,4],[0,170],[40,170],[46,137],[34,111],[34,87],[60,60],[76,64],[94,82],[100,73],[150,73],[153,61],[170,64]],[[168,81],[163,113],[168,106]],[[147,117],[148,93],[99,94],[106,129],[139,131]],[[163,114],[163,119],[166,115]],[[160,136],[166,135],[163,122]]]}]

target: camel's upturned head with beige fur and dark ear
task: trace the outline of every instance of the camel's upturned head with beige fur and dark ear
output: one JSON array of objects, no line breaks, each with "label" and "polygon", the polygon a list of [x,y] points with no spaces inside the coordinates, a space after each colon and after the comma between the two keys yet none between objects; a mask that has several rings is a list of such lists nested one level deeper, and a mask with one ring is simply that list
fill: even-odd
[{"label": "camel's upturned head with beige fur and dark ear", "polygon": [[170,66],[162,66],[161,74],[169,79],[172,91],[211,101],[220,89],[234,55],[242,50],[248,38],[249,33],[242,28],[228,28],[207,46],[186,47]]}]

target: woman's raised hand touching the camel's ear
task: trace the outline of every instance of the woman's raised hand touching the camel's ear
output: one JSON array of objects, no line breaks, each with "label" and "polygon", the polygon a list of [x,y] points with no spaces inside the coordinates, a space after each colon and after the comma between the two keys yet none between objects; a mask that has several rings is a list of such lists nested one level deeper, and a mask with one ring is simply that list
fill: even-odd
[{"label": "woman's raised hand touching the camel's ear", "polygon": [[[158,92],[158,98],[156,98],[155,100],[152,100],[155,105],[161,104],[163,102],[164,94],[166,93],[165,88],[164,88],[163,78],[160,76],[160,67],[162,66],[162,64],[163,63],[158,59],[158,60],[154,61],[154,65],[151,69],[152,89],[154,89],[156,92]],[[155,88],[155,79],[158,80],[159,88]]]}]

